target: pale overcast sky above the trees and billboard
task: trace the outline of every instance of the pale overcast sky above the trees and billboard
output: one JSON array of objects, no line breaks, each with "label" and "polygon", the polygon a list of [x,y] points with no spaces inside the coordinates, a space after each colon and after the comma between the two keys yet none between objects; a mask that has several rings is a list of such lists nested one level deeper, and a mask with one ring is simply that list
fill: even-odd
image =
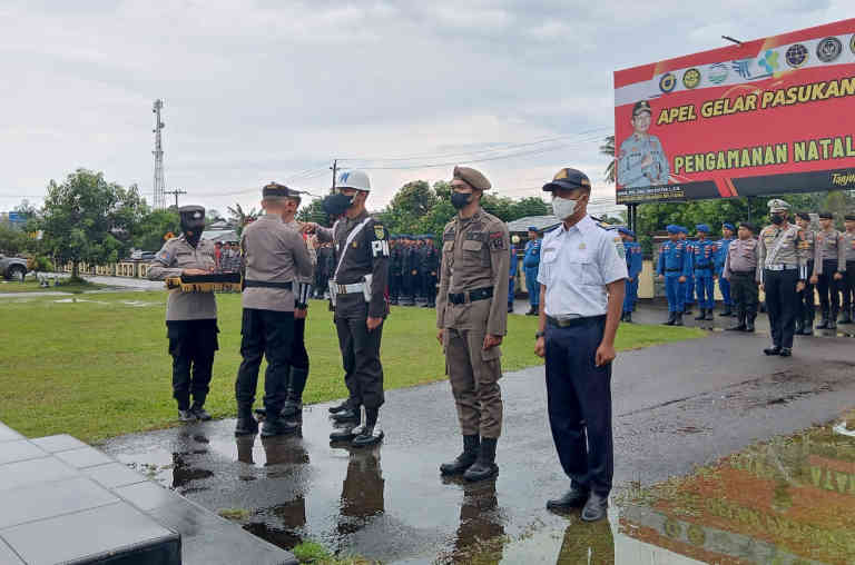
[{"label": "pale overcast sky above the trees and billboard", "polygon": [[853,16],[852,0],[2,0],[0,210],[78,167],[150,202],[155,98],[183,204],[253,206],[268,180],[321,194],[334,158],[384,167],[373,209],[473,159],[504,196],[574,166],[613,201],[597,147],[616,69]]}]

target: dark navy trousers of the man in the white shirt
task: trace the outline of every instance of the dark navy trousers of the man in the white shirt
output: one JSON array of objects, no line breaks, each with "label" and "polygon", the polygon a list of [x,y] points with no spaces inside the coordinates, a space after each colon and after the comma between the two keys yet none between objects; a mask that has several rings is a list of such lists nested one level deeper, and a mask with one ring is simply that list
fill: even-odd
[{"label": "dark navy trousers of the man in the white shirt", "polygon": [[574,487],[608,496],[615,475],[611,364],[594,366],[606,317],[547,326],[547,408],[561,467]]}]

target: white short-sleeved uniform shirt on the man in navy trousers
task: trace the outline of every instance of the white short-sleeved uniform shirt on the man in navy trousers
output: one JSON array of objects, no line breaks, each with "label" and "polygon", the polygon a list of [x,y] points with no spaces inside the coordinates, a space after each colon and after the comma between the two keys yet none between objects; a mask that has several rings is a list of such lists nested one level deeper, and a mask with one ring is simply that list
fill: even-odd
[{"label": "white short-sleeved uniform shirt on the man in navy trousers", "polygon": [[606,285],[627,278],[623,241],[586,216],[570,229],[547,234],[538,282],[546,285],[544,309],[553,318],[605,316]]}]

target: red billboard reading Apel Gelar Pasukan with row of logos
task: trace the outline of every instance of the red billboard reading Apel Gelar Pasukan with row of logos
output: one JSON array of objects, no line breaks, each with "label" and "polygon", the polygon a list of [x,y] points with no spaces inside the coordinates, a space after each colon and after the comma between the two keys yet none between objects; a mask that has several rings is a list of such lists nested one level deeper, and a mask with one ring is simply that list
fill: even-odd
[{"label": "red billboard reading Apel Gelar Pasukan with row of logos", "polygon": [[618,204],[855,189],[855,19],[615,72]]}]

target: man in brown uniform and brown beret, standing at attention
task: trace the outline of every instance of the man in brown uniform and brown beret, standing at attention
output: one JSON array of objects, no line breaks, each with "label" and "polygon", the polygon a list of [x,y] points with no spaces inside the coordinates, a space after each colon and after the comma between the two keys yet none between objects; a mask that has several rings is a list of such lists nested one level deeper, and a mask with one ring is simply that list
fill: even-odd
[{"label": "man in brown uniform and brown beret, standing at attention", "polygon": [[484,480],[499,474],[495,445],[502,432],[499,347],[507,334],[510,280],[508,226],[481,208],[490,181],[480,171],[454,167],[451,204],[458,210],[442,234],[436,339],[463,434],[463,453],[440,466],[442,475]]}]

